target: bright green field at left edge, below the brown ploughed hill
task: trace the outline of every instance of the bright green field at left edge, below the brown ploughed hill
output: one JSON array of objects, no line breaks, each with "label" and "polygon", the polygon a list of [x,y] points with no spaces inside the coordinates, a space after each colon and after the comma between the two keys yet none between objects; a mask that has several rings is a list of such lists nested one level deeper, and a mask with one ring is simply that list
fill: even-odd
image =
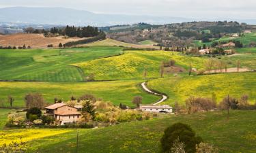
[{"label": "bright green field at left edge, below the brown ploughed hill", "polygon": [[44,82],[83,81],[85,75],[74,63],[113,56],[118,47],[0,50],[0,80],[33,80]]}]

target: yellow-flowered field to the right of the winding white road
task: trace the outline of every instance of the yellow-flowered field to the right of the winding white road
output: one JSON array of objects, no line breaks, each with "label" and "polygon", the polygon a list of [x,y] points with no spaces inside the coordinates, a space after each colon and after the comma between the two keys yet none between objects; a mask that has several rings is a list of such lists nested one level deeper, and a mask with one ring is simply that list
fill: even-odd
[{"label": "yellow-flowered field to the right of the winding white road", "polygon": [[193,77],[171,77],[150,80],[150,88],[166,93],[169,99],[165,102],[173,105],[175,101],[185,102],[190,96],[212,98],[216,94],[217,101],[221,101],[228,94],[240,98],[242,94],[249,96],[249,101],[256,101],[256,73],[229,73],[216,75],[202,75]]}]

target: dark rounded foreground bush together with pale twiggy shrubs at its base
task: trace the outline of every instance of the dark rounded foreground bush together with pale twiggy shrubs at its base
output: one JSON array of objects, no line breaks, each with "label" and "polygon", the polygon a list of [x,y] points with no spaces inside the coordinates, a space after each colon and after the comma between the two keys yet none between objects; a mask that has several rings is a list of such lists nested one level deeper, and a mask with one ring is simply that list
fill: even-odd
[{"label": "dark rounded foreground bush together with pale twiggy shrubs at its base", "polygon": [[195,131],[183,123],[175,123],[165,129],[160,139],[163,153],[217,153],[218,148],[203,143],[203,139]]}]

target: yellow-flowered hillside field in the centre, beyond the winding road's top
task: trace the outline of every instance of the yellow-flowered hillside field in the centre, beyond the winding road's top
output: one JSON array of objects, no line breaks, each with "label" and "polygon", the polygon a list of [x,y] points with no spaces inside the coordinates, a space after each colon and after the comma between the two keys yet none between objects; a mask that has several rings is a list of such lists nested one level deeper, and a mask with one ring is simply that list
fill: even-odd
[{"label": "yellow-flowered hillside field in the centre, beyond the winding road's top", "polygon": [[175,65],[188,69],[201,68],[205,58],[182,56],[165,51],[126,51],[122,56],[101,58],[94,61],[75,64],[83,69],[85,75],[94,73],[96,80],[142,79],[144,67],[147,67],[147,78],[159,78],[162,61],[174,59]]}]

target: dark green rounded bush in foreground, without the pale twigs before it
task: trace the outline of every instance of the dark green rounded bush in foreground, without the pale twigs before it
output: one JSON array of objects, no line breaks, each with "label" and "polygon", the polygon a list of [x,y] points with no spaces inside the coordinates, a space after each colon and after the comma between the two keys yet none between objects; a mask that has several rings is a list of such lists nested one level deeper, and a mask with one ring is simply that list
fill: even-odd
[{"label": "dark green rounded bush in foreground, without the pale twigs before it", "polygon": [[162,152],[169,152],[177,139],[185,144],[188,153],[194,153],[196,145],[202,141],[201,137],[196,137],[195,132],[188,124],[175,123],[165,129],[165,134],[160,139]]}]

